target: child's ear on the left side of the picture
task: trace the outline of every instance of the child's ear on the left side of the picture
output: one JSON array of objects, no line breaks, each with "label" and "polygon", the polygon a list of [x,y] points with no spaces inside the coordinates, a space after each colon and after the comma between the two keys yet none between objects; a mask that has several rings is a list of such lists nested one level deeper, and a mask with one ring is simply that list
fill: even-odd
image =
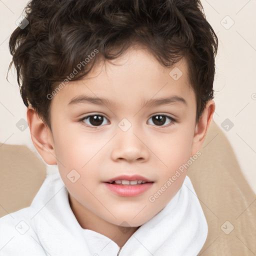
[{"label": "child's ear on the left side of the picture", "polygon": [[36,150],[47,164],[56,164],[54,142],[50,128],[30,105],[27,107],[26,117],[31,139]]}]

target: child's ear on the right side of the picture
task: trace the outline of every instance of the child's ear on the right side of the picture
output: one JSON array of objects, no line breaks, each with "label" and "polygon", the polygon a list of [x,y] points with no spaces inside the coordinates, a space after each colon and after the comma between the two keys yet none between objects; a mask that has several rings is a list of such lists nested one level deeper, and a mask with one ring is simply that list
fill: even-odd
[{"label": "child's ear on the right side of the picture", "polygon": [[191,146],[191,156],[194,155],[201,147],[209,124],[211,122],[213,113],[215,110],[215,102],[211,99],[206,103],[205,109],[203,110],[198,122],[195,125],[194,137]]}]

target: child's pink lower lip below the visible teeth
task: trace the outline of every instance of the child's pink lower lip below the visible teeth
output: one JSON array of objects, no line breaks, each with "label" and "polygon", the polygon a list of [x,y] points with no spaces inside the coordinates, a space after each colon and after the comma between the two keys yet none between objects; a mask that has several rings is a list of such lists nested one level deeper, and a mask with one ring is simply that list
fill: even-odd
[{"label": "child's pink lower lip below the visible teeth", "polygon": [[110,191],[114,192],[115,194],[121,196],[137,196],[145,192],[147,189],[149,189],[153,182],[148,182],[139,185],[117,185],[106,182],[104,182],[104,184]]}]

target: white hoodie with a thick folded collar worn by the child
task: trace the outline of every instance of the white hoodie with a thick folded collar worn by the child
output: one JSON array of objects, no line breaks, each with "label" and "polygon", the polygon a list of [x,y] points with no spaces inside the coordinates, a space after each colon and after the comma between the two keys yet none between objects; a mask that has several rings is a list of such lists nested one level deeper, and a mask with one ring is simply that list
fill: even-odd
[{"label": "white hoodie with a thick folded collar worn by the child", "polygon": [[0,256],[192,256],[206,237],[207,222],[188,176],[121,248],[79,225],[58,172],[45,178],[29,207],[0,218]]}]

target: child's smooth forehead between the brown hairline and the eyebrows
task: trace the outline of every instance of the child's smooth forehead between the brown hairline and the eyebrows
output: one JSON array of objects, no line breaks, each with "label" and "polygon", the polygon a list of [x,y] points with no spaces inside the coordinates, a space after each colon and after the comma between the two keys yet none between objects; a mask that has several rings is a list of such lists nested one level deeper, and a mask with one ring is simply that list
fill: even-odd
[{"label": "child's smooth forehead between the brown hairline and the eyebrows", "polygon": [[106,98],[109,105],[131,106],[137,100],[141,105],[167,94],[193,101],[187,72],[185,58],[172,67],[164,67],[145,47],[136,45],[116,59],[101,59],[81,80],[69,81],[53,97],[52,104],[68,105],[81,94]]}]

